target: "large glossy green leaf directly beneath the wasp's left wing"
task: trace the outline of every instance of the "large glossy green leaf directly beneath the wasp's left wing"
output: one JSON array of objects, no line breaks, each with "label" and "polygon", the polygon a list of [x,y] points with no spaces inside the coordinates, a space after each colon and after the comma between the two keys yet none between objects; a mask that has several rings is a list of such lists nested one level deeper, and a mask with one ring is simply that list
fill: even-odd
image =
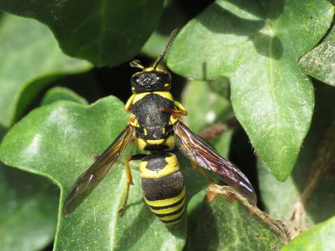
[{"label": "large glossy green leaf directly beneath the wasp's left wing", "polygon": [[[124,104],[107,97],[90,106],[53,102],[24,117],[8,132],[0,146],[6,165],[47,176],[59,185],[61,205],[77,177],[117,137],[128,121]],[[110,174],[70,215],[59,222],[55,250],[181,250],[185,222],[170,229],[149,211],[140,192],[139,174],[133,170],[128,208],[117,211],[126,192],[125,153]],[[132,163],[132,167],[137,167]],[[191,170],[191,169],[190,169]],[[152,236],[155,236],[152,239]]]}]

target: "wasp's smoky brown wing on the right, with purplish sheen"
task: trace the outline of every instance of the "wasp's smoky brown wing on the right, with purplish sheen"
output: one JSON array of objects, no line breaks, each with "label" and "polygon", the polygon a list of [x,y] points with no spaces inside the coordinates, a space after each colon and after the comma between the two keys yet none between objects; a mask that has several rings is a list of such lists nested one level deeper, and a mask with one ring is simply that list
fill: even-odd
[{"label": "wasp's smoky brown wing on the right, with purplish sheen", "polygon": [[200,167],[214,172],[227,185],[244,195],[251,204],[256,204],[257,198],[253,186],[232,162],[221,157],[181,121],[174,124],[174,135],[177,148],[181,153],[197,162]]}]

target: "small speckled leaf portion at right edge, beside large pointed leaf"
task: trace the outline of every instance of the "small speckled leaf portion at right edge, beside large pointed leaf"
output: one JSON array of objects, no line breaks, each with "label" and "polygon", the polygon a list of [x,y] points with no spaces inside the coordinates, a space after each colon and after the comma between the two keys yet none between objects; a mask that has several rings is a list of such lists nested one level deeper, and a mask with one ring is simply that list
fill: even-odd
[{"label": "small speckled leaf portion at right edge, beside large pointed leaf", "polygon": [[335,25],[332,25],[322,43],[299,60],[304,73],[335,86]]}]

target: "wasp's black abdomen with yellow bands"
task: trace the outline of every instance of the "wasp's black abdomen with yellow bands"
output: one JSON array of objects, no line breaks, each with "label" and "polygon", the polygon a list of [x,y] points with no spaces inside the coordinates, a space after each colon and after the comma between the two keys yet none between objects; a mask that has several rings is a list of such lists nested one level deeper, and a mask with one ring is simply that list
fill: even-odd
[{"label": "wasp's black abdomen with yellow bands", "polygon": [[150,210],[167,225],[177,225],[185,210],[184,177],[176,155],[154,153],[140,163],[141,186]]}]

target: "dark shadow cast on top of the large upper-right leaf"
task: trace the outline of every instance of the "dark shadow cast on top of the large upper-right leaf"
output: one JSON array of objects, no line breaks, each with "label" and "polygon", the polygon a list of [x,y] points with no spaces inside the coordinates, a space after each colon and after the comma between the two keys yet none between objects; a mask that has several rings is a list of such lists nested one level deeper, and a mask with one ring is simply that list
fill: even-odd
[{"label": "dark shadow cast on top of the large upper-right leaf", "polygon": [[[283,45],[278,36],[276,36],[274,29],[265,22],[265,19],[276,19],[281,15],[283,12],[283,0],[279,1],[278,8],[271,8],[271,6],[265,5],[258,6],[258,4],[249,3],[246,0],[230,0],[227,2],[252,15],[260,17],[262,20],[251,20],[240,17],[226,10],[218,3],[214,3],[207,8],[206,13],[210,15],[200,15],[197,17],[197,20],[213,33],[246,36],[248,40],[253,42],[259,54],[276,60],[281,59],[281,56],[283,56]],[[270,8],[271,10],[269,10]],[[265,25],[269,26],[266,30],[272,33],[272,36],[261,31],[265,28]]]}]

